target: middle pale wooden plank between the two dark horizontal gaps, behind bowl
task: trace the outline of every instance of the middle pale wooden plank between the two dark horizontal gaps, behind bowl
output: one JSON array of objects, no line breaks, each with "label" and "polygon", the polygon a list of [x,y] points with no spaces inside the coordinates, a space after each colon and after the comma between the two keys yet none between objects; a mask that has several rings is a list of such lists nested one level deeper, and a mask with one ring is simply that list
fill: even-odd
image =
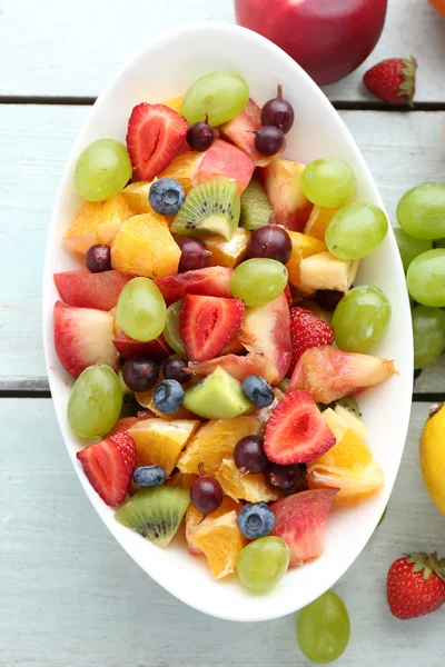
[{"label": "middle pale wooden plank between the two dark horizontal gaps, behind bowl", "polygon": [[[0,389],[47,390],[40,334],[41,269],[48,220],[70,146],[86,107],[0,106]],[[342,116],[357,138],[395,219],[399,197],[443,180],[438,112],[358,112]],[[428,370],[417,391],[445,390]],[[421,389],[422,387],[422,389]]]}]

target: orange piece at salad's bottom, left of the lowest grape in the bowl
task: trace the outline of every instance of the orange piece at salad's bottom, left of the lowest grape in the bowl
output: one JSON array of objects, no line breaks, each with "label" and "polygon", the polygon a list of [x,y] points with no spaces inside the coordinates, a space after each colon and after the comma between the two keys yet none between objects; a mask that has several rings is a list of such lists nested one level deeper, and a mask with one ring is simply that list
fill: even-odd
[{"label": "orange piece at salad's bottom, left of the lowest grape in the bowl", "polygon": [[215,579],[221,579],[235,571],[246,540],[238,528],[236,511],[229,511],[218,519],[205,519],[190,535],[190,541],[206,556]]}]

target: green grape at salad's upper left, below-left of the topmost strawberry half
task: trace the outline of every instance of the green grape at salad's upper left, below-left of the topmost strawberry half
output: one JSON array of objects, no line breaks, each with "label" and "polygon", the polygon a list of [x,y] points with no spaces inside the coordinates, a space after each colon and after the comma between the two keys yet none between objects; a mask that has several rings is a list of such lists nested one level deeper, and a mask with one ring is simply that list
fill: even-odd
[{"label": "green grape at salad's upper left, below-left of the topmost strawberry half", "polygon": [[80,153],[76,165],[76,190],[90,201],[109,199],[130,180],[127,148],[115,139],[98,139]]}]

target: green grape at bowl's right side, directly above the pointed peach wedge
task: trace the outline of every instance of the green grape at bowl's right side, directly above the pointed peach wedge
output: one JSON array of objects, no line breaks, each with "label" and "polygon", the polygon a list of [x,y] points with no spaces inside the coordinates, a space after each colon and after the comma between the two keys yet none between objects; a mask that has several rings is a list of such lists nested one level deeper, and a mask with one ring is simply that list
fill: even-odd
[{"label": "green grape at bowl's right side, directly above the pointed peach wedge", "polygon": [[360,285],[339,301],[333,317],[335,342],[346,352],[368,352],[390,320],[390,303],[377,287]]}]

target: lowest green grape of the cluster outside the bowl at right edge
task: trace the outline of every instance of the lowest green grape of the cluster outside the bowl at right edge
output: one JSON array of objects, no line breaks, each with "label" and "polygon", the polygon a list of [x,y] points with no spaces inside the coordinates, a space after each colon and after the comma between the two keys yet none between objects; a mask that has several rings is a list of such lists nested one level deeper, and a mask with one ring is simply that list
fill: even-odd
[{"label": "lowest green grape of the cluster outside the bowl at right edge", "polygon": [[445,350],[445,311],[441,308],[413,308],[414,368],[432,364]]}]

